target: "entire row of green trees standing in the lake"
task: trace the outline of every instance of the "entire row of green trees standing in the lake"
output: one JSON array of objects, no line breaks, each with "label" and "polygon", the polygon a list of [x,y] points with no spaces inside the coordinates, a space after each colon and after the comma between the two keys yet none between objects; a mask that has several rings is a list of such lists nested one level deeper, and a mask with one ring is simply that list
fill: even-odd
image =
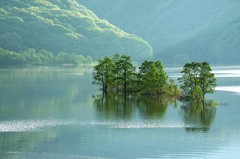
[{"label": "entire row of green trees standing in the lake", "polygon": [[138,70],[130,56],[115,54],[99,59],[93,71],[93,84],[100,86],[103,95],[109,93],[172,96],[182,99],[204,100],[213,93],[216,79],[207,62],[187,63],[179,78],[180,89],[169,79],[161,61],[144,61]]}]

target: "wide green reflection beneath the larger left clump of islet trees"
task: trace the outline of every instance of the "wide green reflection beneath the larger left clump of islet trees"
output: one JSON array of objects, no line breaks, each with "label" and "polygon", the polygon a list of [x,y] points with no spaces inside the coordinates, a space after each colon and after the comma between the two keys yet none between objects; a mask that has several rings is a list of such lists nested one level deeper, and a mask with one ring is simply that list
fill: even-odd
[{"label": "wide green reflection beneath the larger left clump of islet trees", "polygon": [[144,118],[161,118],[167,107],[174,102],[169,98],[131,97],[108,95],[94,97],[98,115],[104,118],[126,119],[139,112]]}]

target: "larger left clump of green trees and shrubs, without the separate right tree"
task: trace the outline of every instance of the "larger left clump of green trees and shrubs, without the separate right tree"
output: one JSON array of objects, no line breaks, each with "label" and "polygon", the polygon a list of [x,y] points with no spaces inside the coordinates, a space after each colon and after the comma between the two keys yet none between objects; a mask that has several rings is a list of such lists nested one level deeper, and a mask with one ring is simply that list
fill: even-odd
[{"label": "larger left clump of green trees and shrubs, without the separate right tree", "polygon": [[115,54],[112,59],[98,60],[93,80],[93,84],[100,85],[103,94],[179,95],[174,81],[168,82],[161,61],[144,61],[137,72],[130,56]]}]

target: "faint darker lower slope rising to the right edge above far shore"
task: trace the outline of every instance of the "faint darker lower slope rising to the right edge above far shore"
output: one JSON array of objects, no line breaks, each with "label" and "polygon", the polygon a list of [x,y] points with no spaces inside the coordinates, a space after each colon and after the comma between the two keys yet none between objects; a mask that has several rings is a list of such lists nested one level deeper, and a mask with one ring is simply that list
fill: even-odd
[{"label": "faint darker lower slope rising to the right edge above far shore", "polygon": [[[213,26],[164,49],[170,61],[209,61],[214,64],[240,64],[240,19]],[[170,56],[169,56],[170,55]],[[172,56],[171,56],[172,55]]]}]

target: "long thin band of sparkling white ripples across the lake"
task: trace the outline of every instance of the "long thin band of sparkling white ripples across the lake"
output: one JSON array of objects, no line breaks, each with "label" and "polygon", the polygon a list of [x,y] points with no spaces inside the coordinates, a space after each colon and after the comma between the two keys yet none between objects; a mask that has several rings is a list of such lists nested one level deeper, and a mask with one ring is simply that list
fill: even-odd
[{"label": "long thin band of sparkling white ripples across the lake", "polygon": [[58,126],[99,126],[112,129],[156,129],[156,128],[188,128],[201,127],[180,122],[157,121],[105,121],[82,122],[76,120],[11,120],[0,122],[0,132],[34,132],[44,131]]}]

